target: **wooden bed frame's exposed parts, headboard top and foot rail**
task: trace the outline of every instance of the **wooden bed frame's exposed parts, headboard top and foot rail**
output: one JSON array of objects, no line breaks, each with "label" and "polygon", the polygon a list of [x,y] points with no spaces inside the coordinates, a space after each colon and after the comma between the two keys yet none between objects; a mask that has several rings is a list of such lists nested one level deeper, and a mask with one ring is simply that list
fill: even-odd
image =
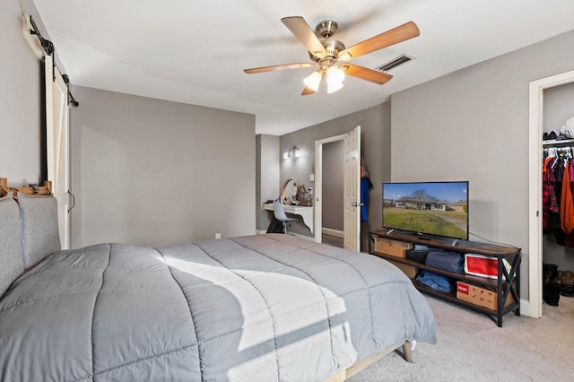
[{"label": "wooden bed frame's exposed parts, headboard top and foot rail", "polygon": [[[8,179],[0,178],[0,197],[6,195],[7,193],[14,191],[13,198],[18,199],[18,193],[26,195],[51,195],[52,194],[52,182],[44,181],[43,186],[38,187],[35,184],[30,184],[28,187],[8,187]],[[379,352],[371,354],[369,357],[358,360],[352,366],[347,369],[341,370],[335,375],[327,378],[325,382],[343,382],[344,380],[351,378],[353,375],[359,373],[361,370],[368,368],[373,363],[377,362],[387,354],[395,352],[398,348],[403,347],[403,357],[407,362],[412,362],[413,357],[411,353],[412,343],[405,342],[399,343],[393,346],[389,346]]]}]

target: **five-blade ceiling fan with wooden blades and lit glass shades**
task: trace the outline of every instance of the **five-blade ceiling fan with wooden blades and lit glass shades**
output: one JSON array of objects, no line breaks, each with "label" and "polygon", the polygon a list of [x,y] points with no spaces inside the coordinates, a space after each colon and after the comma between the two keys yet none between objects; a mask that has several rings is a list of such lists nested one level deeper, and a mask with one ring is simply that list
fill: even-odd
[{"label": "five-blade ceiling fan with wooden blades and lit glass shades", "polygon": [[[406,22],[392,30],[387,30],[370,39],[365,39],[350,48],[345,48],[341,41],[330,39],[335,30],[337,30],[337,23],[334,21],[319,22],[315,28],[317,34],[311,30],[309,24],[300,16],[283,17],[281,21],[309,50],[309,57],[313,62],[256,67],[245,69],[244,72],[256,74],[318,65],[319,69],[305,78],[306,87],[301,95],[309,95],[316,92],[324,76],[326,76],[328,93],[338,91],[343,87],[345,74],[382,85],[393,78],[393,76],[363,66],[349,64],[348,61],[404,40],[413,39],[419,35],[419,28],[416,24],[414,22]],[[323,39],[318,39],[317,35]],[[339,61],[343,63],[339,63]]]}]

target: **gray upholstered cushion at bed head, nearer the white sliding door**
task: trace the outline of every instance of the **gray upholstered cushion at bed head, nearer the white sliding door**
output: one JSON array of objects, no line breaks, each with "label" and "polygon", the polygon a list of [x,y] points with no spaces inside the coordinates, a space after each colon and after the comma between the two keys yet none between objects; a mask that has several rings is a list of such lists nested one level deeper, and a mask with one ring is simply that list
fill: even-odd
[{"label": "gray upholstered cushion at bed head, nearer the white sliding door", "polygon": [[22,219],[22,252],[26,269],[60,250],[57,200],[53,195],[18,194]]}]

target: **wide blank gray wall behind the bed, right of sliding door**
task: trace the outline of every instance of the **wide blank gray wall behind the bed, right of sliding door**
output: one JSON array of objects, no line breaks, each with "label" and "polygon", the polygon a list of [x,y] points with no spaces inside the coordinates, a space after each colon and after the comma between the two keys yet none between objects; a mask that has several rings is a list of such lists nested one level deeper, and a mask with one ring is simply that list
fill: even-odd
[{"label": "wide blank gray wall behind the bed, right of sliding door", "polygon": [[255,233],[255,117],[74,86],[72,246]]}]

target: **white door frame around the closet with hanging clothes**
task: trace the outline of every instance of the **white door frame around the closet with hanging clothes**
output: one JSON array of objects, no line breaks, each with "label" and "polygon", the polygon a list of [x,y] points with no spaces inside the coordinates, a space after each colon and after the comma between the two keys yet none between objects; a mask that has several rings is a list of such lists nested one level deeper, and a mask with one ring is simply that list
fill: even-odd
[{"label": "white door frame around the closet with hanging clothes", "polygon": [[544,90],[574,82],[574,70],[530,82],[528,130],[528,303],[520,310],[542,317],[542,135]]}]

